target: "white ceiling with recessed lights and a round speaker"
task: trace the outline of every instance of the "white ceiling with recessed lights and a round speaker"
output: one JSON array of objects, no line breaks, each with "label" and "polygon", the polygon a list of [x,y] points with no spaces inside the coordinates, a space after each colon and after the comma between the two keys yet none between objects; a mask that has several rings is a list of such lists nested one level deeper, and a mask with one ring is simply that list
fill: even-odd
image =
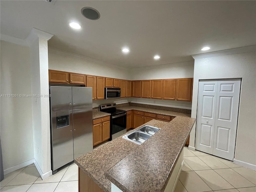
[{"label": "white ceiling with recessed lights and a round speaker", "polygon": [[[84,18],[86,6],[100,19]],[[256,1],[1,0],[0,8],[1,34],[26,39],[38,28],[54,34],[49,46],[123,68],[190,61],[204,46],[212,52],[256,44]]]}]

